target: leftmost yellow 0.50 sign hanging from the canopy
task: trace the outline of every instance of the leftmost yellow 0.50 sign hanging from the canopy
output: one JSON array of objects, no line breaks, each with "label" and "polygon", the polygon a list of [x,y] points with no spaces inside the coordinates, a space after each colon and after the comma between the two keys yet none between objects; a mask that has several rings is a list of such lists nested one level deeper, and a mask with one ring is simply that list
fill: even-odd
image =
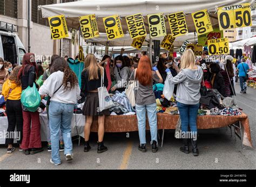
[{"label": "leftmost yellow 0.50 sign hanging from the canopy", "polygon": [[53,40],[69,37],[66,19],[63,15],[49,17],[48,20]]}]

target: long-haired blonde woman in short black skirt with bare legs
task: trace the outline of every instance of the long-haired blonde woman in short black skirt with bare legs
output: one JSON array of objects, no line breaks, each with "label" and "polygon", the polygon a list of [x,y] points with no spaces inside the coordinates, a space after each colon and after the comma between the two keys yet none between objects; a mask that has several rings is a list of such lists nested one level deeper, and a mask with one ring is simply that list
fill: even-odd
[{"label": "long-haired blonde woman in short black skirt with bare legs", "polygon": [[109,115],[109,109],[102,112],[99,111],[99,97],[98,88],[101,87],[101,79],[104,73],[104,86],[107,88],[106,70],[99,66],[96,57],[93,54],[88,54],[85,57],[85,69],[82,71],[82,96],[86,97],[83,114],[86,116],[86,123],[84,127],[84,152],[89,152],[91,149],[89,145],[89,136],[91,132],[91,124],[93,117],[98,116],[98,153],[103,153],[107,150],[104,146],[104,120],[105,115]]}]

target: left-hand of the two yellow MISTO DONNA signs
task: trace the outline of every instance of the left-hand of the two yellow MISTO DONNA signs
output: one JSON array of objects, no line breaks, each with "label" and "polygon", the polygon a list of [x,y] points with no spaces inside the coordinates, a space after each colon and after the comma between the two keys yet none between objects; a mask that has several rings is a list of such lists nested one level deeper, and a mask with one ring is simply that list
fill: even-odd
[{"label": "left-hand of the two yellow MISTO DONNA signs", "polygon": [[143,37],[147,34],[141,13],[126,16],[125,19],[132,39]]}]

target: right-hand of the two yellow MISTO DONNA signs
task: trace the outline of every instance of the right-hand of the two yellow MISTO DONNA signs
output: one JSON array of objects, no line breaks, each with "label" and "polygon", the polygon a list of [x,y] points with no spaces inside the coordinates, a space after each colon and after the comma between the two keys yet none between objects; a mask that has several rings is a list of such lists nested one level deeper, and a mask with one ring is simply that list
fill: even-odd
[{"label": "right-hand of the two yellow MISTO DONNA signs", "polygon": [[178,37],[179,35],[183,35],[188,32],[183,12],[171,13],[168,15],[168,20],[173,37]]}]

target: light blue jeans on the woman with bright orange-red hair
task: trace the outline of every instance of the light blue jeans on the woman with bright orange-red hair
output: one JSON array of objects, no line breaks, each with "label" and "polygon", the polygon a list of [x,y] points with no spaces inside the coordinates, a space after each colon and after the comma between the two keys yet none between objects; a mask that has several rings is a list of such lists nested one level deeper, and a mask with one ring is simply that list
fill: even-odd
[{"label": "light blue jeans on the woman with bright orange-red hair", "polygon": [[151,144],[155,140],[157,142],[157,104],[137,105],[136,115],[139,128],[139,141],[140,144],[146,143],[146,111],[147,118],[149,119]]}]

